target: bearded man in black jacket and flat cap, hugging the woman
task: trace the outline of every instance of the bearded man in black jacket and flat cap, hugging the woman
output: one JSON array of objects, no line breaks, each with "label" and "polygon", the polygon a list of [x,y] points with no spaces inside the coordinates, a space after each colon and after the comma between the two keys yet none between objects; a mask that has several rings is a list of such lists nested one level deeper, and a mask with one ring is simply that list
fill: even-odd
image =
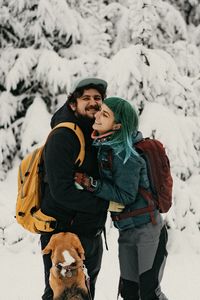
[{"label": "bearded man in black jacket and flat cap, hugging the woman", "polygon": [[[77,170],[98,178],[96,150],[92,147],[92,124],[94,115],[100,109],[106,95],[107,83],[98,78],[86,78],[79,81],[67,102],[54,114],[51,126],[61,122],[77,124],[85,138],[85,158],[78,167],[76,158],[80,143],[76,134],[68,128],[53,131],[45,146],[44,187],[42,212],[54,217],[57,226],[53,233],[70,231],[76,233],[85,250],[85,265],[90,276],[90,292],[95,293],[95,282],[101,266],[101,232],[107,216],[108,204],[88,191],[76,189],[74,174]],[[41,235],[42,249],[48,244],[52,233]],[[42,299],[52,299],[49,286],[50,255],[43,255],[45,269],[45,291]]]}]

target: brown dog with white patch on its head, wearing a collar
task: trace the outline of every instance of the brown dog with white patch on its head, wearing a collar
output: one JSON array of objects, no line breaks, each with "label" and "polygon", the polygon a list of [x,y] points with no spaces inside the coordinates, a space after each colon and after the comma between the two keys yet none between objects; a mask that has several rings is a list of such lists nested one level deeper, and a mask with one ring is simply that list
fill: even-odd
[{"label": "brown dog with white patch on its head, wearing a collar", "polygon": [[85,253],[78,236],[71,232],[52,235],[43,254],[51,253],[49,284],[54,300],[86,300]]}]

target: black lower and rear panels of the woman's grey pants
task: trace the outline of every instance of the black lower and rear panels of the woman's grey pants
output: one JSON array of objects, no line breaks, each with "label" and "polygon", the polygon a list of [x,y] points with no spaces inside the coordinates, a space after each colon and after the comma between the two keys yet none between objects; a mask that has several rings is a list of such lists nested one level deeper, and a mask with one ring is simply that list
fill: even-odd
[{"label": "black lower and rear panels of the woman's grey pants", "polygon": [[160,233],[153,267],[140,275],[139,282],[120,278],[119,292],[124,300],[167,300],[160,289],[160,281],[167,257],[166,244],[167,230],[164,226]]}]

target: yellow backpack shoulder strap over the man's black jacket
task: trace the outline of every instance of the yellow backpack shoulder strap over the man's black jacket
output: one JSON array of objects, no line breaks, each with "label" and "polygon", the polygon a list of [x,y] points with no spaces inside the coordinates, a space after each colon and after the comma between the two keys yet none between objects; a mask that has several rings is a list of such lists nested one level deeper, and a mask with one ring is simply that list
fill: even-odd
[{"label": "yellow backpack shoulder strap over the man's black jacket", "polygon": [[[75,123],[62,122],[62,123],[59,123],[57,126],[55,126],[51,130],[50,134],[48,135],[48,138],[55,129],[60,128],[60,127],[66,127],[66,128],[69,128],[69,129],[73,130],[74,133],[76,134],[76,136],[78,137],[79,142],[80,142],[80,151],[79,151],[78,157],[76,159],[76,163],[78,163],[79,167],[80,167],[82,165],[83,161],[84,161],[84,158],[85,158],[85,138],[84,138],[83,132],[80,129],[80,127]],[[48,138],[47,138],[47,140],[48,140]]]}]

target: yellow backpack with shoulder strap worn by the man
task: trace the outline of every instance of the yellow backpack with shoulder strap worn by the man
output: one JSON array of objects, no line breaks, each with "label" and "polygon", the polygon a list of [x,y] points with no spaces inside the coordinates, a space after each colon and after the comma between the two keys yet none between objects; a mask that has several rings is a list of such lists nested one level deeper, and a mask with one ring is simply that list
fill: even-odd
[{"label": "yellow backpack with shoulder strap worn by the man", "polygon": [[[74,123],[63,122],[54,127],[52,131],[59,127],[70,128],[77,135],[80,142],[80,152],[76,159],[76,163],[80,166],[85,157],[85,140],[81,129]],[[56,221],[53,217],[43,214],[40,209],[42,179],[40,166],[43,162],[42,153],[45,144],[29,153],[21,161],[18,171],[16,220],[20,225],[32,233],[53,231],[54,229],[51,228],[51,224],[52,221]]]}]

